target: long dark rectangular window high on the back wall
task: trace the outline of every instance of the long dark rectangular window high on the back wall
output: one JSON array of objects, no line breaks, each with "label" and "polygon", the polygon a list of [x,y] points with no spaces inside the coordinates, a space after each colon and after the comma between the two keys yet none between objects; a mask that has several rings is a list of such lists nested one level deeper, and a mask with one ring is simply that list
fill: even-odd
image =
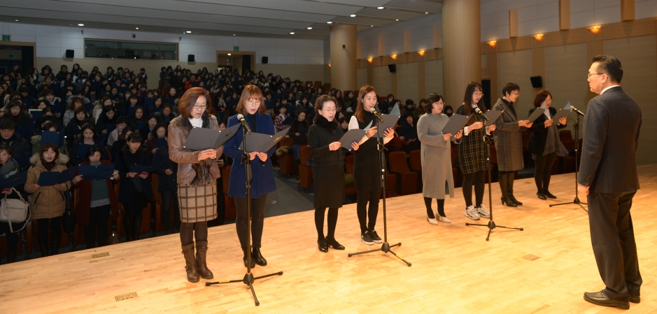
[{"label": "long dark rectangular window high on the back wall", "polygon": [[85,39],[85,58],[178,61],[178,44]]}]

